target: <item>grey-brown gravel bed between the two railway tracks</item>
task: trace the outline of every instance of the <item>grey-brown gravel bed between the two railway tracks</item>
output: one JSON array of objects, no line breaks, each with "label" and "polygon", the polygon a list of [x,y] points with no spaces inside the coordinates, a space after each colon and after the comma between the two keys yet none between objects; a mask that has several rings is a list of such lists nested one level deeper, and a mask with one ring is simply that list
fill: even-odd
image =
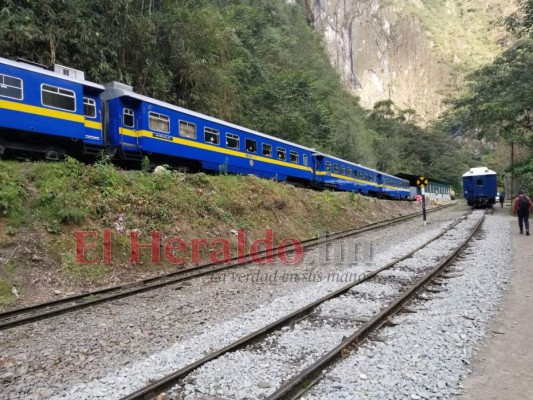
[{"label": "grey-brown gravel bed between the two railway tracks", "polygon": [[[345,271],[360,276],[407,253],[457,215],[437,213],[425,227],[411,221],[359,236],[364,251],[358,265],[324,266],[311,251],[298,267],[272,268],[278,276],[295,269],[319,274],[318,282],[206,278],[1,333],[4,370],[13,374],[13,380],[0,383],[2,393],[9,399],[120,398],[344,286]],[[258,271],[264,267],[240,270],[248,276]],[[337,280],[323,278],[337,272]]]}]

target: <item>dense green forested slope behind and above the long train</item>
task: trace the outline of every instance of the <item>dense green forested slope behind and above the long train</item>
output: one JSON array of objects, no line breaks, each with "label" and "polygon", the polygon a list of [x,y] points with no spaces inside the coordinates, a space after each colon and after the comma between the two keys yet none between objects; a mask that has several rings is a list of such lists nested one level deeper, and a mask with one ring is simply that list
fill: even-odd
[{"label": "dense green forested slope behind and above the long train", "polygon": [[[464,169],[457,146],[405,118],[412,113],[391,118],[359,106],[298,2],[3,4],[4,57],[79,68],[90,80],[128,83],[139,93],[390,173],[431,171],[455,182]],[[432,152],[423,154],[427,146],[420,143],[431,143]]]}]

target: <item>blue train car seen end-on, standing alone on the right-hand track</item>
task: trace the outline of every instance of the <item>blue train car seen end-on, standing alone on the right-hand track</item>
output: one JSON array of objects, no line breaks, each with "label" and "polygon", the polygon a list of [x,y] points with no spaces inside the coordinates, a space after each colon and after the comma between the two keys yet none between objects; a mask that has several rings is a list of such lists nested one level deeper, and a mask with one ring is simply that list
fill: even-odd
[{"label": "blue train car seen end-on, standing alone on the right-hand track", "polygon": [[486,167],[471,168],[463,175],[463,193],[469,206],[492,207],[496,203],[496,172]]}]

